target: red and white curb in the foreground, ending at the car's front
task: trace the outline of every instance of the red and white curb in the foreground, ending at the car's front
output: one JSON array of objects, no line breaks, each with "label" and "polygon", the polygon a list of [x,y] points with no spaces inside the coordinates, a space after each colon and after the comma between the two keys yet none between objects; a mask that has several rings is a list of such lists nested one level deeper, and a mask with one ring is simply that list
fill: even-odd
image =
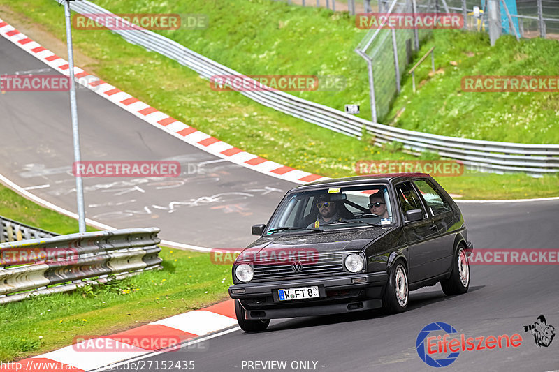
[{"label": "red and white curb in the foreground, ending at the car's front", "polygon": [[[152,354],[156,350],[150,347],[139,348],[138,345],[158,345],[161,339],[180,338],[184,342],[235,325],[237,320],[234,302],[233,299],[229,299],[202,310],[189,311],[118,334],[82,341],[87,343],[87,346],[76,343],[13,364],[4,364],[0,366],[0,371],[79,372],[101,369],[124,360]],[[231,331],[236,329],[233,328]],[[180,350],[175,351],[180,352]],[[16,363],[18,364],[15,365]]]}]

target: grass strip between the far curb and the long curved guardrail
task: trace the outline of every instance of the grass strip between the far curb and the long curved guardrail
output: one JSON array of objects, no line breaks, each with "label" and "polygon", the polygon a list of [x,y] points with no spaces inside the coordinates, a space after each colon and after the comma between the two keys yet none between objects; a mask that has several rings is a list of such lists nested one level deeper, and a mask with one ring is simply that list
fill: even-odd
[{"label": "grass strip between the far curb and the long curved guardrail", "polygon": [[[251,6],[260,3],[259,1],[247,2]],[[122,3],[118,3],[119,6],[122,6]],[[140,8],[131,6],[127,10],[128,13],[157,11],[157,8],[148,6],[151,2],[148,4],[139,1],[138,3],[144,6]],[[185,2],[181,0],[180,3]],[[224,9],[232,11],[226,2],[217,4],[208,1],[208,3],[212,3],[221,9],[220,11]],[[238,1],[235,5],[242,7],[243,3],[245,2]],[[100,1],[99,4],[104,5],[105,2]],[[45,47],[50,47],[50,44],[55,45],[55,41],[59,43],[59,40],[65,40],[63,11],[54,1],[35,0],[34,7],[31,8],[23,3],[0,0],[0,6],[8,10],[4,16],[6,20],[13,22],[17,27],[21,25],[24,29],[29,29],[28,34],[31,38],[34,38],[34,34],[39,38],[44,34],[51,35],[52,43],[45,43]],[[189,13],[195,10],[202,12],[206,9],[198,9],[194,4],[193,7],[188,8],[192,10]],[[279,3],[270,7],[271,10],[277,7],[284,9]],[[111,6],[109,8],[119,11]],[[304,11],[316,12],[317,10],[309,8]],[[293,13],[293,10],[289,12]],[[318,10],[318,12],[321,17],[330,14],[326,10]],[[225,20],[224,22],[226,23]],[[215,27],[219,29],[219,24]],[[217,29],[212,31],[217,32]],[[224,33],[222,36],[225,38],[226,31],[220,32]],[[238,32],[244,31],[238,30]],[[254,34],[254,38],[258,37],[257,34]],[[308,124],[258,105],[235,92],[212,91],[206,80],[202,80],[188,68],[159,54],[147,52],[142,47],[126,43],[110,31],[76,30],[73,36],[75,50],[78,51],[78,55],[83,56],[84,61],[87,59],[86,68],[89,72],[95,73],[106,82],[133,94],[176,119],[263,158],[328,177],[354,175],[355,162],[363,159],[414,158],[403,154],[398,146],[374,147],[369,140],[357,140]],[[210,37],[205,34],[198,35],[198,37],[202,36]],[[254,47],[256,48],[256,45]],[[221,48],[217,49],[221,50]],[[64,56],[63,48],[55,52]],[[80,58],[77,63],[79,66]],[[339,67],[340,63],[337,66]],[[360,94],[363,95],[363,91]],[[559,195],[558,177],[554,176],[533,179],[525,174],[506,176],[482,174],[479,177],[478,175],[438,177],[437,180],[450,193],[471,199],[537,198]]]}]

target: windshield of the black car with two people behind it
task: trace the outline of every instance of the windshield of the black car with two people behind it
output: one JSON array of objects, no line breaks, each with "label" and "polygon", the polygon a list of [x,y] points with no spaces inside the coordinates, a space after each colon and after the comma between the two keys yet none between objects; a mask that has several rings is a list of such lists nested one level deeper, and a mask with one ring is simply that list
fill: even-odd
[{"label": "windshield of the black car with two people behind it", "polygon": [[379,227],[393,223],[392,211],[385,184],[301,191],[282,201],[266,234]]}]

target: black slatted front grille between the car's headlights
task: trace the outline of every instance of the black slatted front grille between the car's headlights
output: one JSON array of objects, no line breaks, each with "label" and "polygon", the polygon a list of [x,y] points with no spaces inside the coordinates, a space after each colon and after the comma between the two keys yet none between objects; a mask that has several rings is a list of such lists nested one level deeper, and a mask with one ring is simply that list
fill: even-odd
[{"label": "black slatted front grille between the car's headlights", "polygon": [[347,274],[342,263],[343,255],[343,252],[318,253],[317,259],[312,262],[300,261],[302,264],[300,272],[293,271],[291,263],[256,264],[252,282]]}]

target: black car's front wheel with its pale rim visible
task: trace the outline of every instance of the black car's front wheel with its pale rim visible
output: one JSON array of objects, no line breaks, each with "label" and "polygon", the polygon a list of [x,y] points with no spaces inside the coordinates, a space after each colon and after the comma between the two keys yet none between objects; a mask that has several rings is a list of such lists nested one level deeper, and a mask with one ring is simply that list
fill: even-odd
[{"label": "black car's front wheel with its pale rim visible", "polygon": [[385,313],[401,313],[407,308],[409,302],[409,283],[407,269],[402,260],[393,263],[389,280],[386,282],[382,296],[382,309]]}]

